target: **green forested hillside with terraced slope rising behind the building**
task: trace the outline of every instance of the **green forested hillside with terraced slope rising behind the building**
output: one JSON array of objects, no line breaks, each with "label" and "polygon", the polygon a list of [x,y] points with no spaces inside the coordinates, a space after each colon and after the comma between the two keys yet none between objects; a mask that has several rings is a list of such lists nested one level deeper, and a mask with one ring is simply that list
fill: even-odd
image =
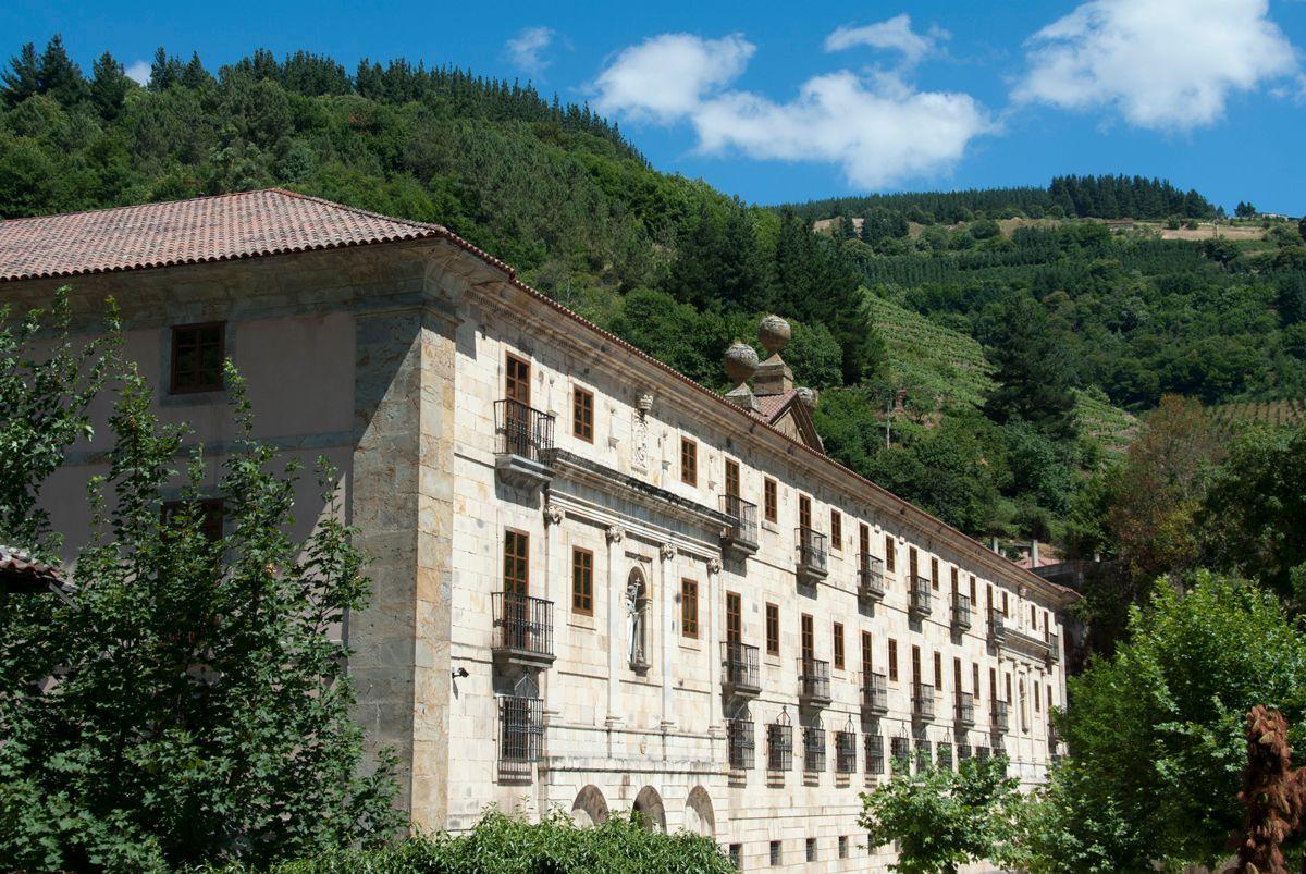
[{"label": "green forested hillside with terraced slope rising behind the building", "polygon": [[54,39],[10,61],[3,99],[0,217],[285,186],[440,222],[716,387],[730,341],[780,312],[829,451],[977,536],[1059,534],[1130,439],[1121,408],[1306,391],[1294,226],[1185,243],[1089,218],[1215,214],[1169,183],[760,208],[530,86],[303,52],[210,71],[161,50],[142,88]]}]

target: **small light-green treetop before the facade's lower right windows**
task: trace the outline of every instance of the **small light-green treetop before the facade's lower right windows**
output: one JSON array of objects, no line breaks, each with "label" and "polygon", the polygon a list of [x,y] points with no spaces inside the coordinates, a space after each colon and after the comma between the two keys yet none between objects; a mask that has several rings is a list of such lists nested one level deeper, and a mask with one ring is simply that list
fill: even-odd
[{"label": "small light-green treetop before the facade's lower right windows", "polygon": [[953,874],[963,865],[1010,854],[1017,781],[1007,759],[965,759],[957,771],[929,766],[897,769],[862,793],[859,824],[872,847],[895,843],[904,874]]}]

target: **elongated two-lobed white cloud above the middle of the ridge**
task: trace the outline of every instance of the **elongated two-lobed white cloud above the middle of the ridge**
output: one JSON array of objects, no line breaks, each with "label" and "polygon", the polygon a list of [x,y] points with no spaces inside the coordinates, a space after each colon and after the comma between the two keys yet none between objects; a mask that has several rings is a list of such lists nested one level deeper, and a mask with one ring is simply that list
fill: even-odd
[{"label": "elongated two-lobed white cloud above the middle of the ridge", "polygon": [[835,163],[865,188],[944,172],[974,137],[994,131],[969,94],[919,91],[896,73],[818,76],[788,102],[729,88],[754,52],[738,34],[654,37],[611,60],[594,82],[594,103],[609,114],[687,121],[701,153]]}]

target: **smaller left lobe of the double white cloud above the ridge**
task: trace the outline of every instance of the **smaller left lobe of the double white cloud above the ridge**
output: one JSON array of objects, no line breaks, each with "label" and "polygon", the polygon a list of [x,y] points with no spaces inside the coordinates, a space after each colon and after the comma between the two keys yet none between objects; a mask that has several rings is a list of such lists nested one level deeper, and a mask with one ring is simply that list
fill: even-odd
[{"label": "smaller left lobe of the double white cloud above the ridge", "polygon": [[710,89],[739,77],[755,48],[739,34],[700,39],[662,34],[618,52],[594,81],[601,112],[673,121]]}]

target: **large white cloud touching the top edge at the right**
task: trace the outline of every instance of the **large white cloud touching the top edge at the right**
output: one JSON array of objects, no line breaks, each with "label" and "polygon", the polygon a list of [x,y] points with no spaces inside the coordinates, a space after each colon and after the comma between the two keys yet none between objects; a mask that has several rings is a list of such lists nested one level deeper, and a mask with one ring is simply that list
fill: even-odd
[{"label": "large white cloud touching the top edge at the right", "polygon": [[1188,131],[1232,91],[1298,72],[1268,0],[1091,0],[1027,42],[1019,102],[1115,107],[1131,124]]}]

